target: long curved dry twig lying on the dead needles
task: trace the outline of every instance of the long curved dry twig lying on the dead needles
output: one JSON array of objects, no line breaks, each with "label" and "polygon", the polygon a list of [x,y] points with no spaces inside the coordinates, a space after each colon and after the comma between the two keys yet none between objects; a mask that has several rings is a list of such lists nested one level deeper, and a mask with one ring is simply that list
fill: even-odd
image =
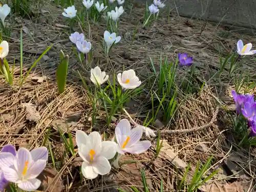
[{"label": "long curved dry twig lying on the dead needles", "polygon": [[[129,115],[129,113],[125,109],[123,109],[123,111],[132,120],[134,125],[138,125],[138,123],[136,123],[132,119],[132,117]],[[205,125],[203,125],[203,126],[198,126],[198,127],[187,129],[187,130],[159,130],[159,131],[154,131],[154,133],[160,133],[160,134],[181,134],[181,133],[189,133],[189,132],[196,132],[196,131],[204,130],[204,129],[208,128],[210,125],[212,125],[215,122],[218,112],[219,112],[219,107],[217,106],[216,111],[214,113],[214,116],[212,116],[210,122],[205,124]]]}]

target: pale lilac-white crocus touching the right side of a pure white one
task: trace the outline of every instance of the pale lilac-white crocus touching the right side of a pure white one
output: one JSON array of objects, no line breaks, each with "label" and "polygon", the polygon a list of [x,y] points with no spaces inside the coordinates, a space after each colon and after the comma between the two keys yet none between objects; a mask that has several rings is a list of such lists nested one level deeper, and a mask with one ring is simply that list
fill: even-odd
[{"label": "pale lilac-white crocus touching the right side of a pure white one", "polygon": [[143,129],[137,126],[131,130],[131,124],[127,119],[122,119],[115,129],[116,151],[119,154],[114,166],[118,167],[118,159],[124,153],[140,154],[148,150],[150,141],[140,141]]}]

